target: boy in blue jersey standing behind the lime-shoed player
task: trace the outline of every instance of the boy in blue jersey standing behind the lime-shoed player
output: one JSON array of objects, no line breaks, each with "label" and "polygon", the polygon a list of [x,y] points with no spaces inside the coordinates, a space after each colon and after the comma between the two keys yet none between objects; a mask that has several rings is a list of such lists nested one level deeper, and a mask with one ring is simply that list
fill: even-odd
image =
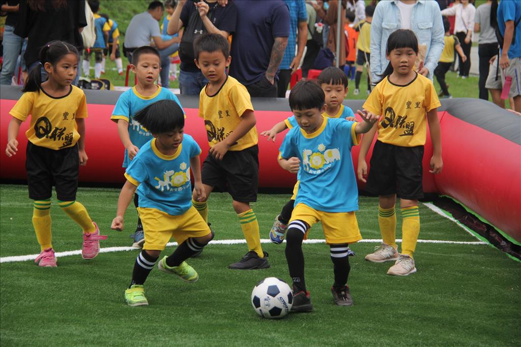
[{"label": "boy in blue jersey standing behind the lime-shoed player", "polygon": [[[158,100],[173,100],[182,108],[177,96],[169,89],[155,84],[161,70],[159,52],[154,47],[143,46],[132,53],[132,72],[136,74],[138,84],[121,94],[116,102],[111,120],[118,124],[118,134],[125,146],[123,168],[128,168],[141,146],[152,139],[152,134],[134,119],[140,110]],[[184,111],[183,111],[184,113]],[[139,194],[134,196],[134,205],[139,207]],[[132,247],[142,248],[145,242],[143,225],[138,217],[138,226],[134,234]]]}]

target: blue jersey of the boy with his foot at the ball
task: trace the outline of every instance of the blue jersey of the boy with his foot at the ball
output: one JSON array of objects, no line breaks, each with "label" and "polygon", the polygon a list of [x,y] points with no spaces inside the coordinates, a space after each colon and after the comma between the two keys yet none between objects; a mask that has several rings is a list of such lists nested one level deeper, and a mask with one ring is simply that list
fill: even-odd
[{"label": "blue jersey of the boy with his foot at the ball", "polygon": [[293,127],[280,146],[280,157],[300,159],[300,185],[295,205],[305,203],[325,212],[358,210],[358,189],[351,147],[358,144],[356,122],[329,119],[313,134]]}]

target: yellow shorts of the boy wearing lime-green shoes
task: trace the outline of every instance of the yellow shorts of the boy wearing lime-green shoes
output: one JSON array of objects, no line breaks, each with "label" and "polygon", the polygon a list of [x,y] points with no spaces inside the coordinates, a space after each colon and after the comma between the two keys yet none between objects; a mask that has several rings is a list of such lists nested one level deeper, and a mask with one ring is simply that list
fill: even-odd
[{"label": "yellow shorts of the boy wearing lime-green shoes", "polygon": [[145,234],[143,249],[162,251],[172,237],[181,245],[189,237],[210,234],[208,224],[193,206],[177,216],[142,207],[138,207],[138,213]]}]

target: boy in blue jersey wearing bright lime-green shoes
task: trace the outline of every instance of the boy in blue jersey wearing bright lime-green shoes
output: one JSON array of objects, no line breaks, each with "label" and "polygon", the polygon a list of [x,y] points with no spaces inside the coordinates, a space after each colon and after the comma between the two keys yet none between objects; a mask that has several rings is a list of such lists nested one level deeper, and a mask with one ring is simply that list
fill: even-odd
[{"label": "boy in blue jersey wearing bright lime-green shoes", "polygon": [[130,306],[140,306],[148,305],[144,282],[171,237],[179,246],[171,255],[164,256],[157,267],[192,283],[199,275],[185,260],[200,252],[213,235],[192,206],[190,170],[194,176],[193,198],[197,201],[206,198],[201,182],[201,148],[192,136],[183,134],[181,107],[173,100],[160,100],[134,119],[154,138],[141,147],[127,168],[127,181],[121,189],[111,228],[123,229],[123,216],[137,190],[145,242],[135,260],[125,300]]}]

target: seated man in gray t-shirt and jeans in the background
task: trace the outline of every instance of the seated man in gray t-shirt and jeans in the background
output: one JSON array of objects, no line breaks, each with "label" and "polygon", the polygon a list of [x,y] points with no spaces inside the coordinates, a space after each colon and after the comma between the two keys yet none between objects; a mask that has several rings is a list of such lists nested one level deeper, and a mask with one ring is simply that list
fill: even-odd
[{"label": "seated man in gray t-shirt and jeans in the background", "polygon": [[154,41],[156,48],[161,56],[161,84],[169,87],[170,59],[179,48],[179,37],[172,37],[164,41],[159,30],[159,20],[163,17],[165,8],[160,1],[153,1],[148,5],[148,10],[135,15],[130,20],[127,32],[125,33],[125,54],[129,61],[132,61],[132,52],[141,46],[150,46]]}]

